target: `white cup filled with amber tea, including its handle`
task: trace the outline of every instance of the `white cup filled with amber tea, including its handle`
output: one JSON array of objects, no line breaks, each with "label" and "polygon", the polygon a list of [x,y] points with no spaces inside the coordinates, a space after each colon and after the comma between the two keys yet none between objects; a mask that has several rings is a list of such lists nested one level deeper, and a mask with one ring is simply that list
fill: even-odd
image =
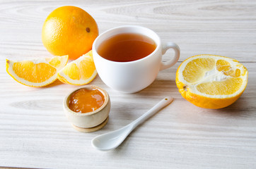
[{"label": "white cup filled with amber tea, including its handle", "polygon": [[[162,62],[168,49],[175,51],[174,57]],[[93,42],[93,60],[101,80],[112,89],[125,93],[148,87],[160,70],[170,68],[179,58],[177,44],[162,44],[156,32],[141,26],[115,27],[103,32]]]}]

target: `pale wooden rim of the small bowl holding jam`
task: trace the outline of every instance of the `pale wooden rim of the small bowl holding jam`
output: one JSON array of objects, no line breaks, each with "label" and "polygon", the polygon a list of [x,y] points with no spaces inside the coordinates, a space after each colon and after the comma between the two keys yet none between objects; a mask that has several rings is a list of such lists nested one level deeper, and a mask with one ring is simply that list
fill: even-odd
[{"label": "pale wooden rim of the small bowl holding jam", "polygon": [[[69,106],[68,106],[68,101],[70,99],[71,94],[73,94],[74,92],[78,91],[79,89],[98,89],[100,92],[102,92],[103,96],[104,96],[104,103],[103,105],[100,106],[100,108],[97,108],[95,111],[90,111],[87,113],[77,113],[75,111],[72,111]],[[107,92],[105,91],[105,89],[95,86],[95,85],[85,85],[83,87],[78,87],[74,90],[72,90],[71,92],[69,92],[69,94],[66,94],[64,101],[63,101],[63,106],[66,109],[66,111],[68,111],[69,113],[73,114],[73,115],[78,115],[78,116],[88,116],[88,115],[93,115],[95,113],[100,112],[101,110],[103,110],[103,108],[105,108],[105,106],[107,106],[107,103],[109,101],[109,95],[107,94]]]}]

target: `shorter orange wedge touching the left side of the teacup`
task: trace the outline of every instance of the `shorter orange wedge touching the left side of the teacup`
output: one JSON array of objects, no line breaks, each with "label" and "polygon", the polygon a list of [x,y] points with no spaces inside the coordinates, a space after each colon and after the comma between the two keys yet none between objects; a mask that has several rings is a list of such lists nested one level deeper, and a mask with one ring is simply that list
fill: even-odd
[{"label": "shorter orange wedge touching the left side of the teacup", "polygon": [[57,77],[66,84],[83,85],[91,82],[96,75],[93,52],[89,51],[75,61],[68,63],[59,71]]}]

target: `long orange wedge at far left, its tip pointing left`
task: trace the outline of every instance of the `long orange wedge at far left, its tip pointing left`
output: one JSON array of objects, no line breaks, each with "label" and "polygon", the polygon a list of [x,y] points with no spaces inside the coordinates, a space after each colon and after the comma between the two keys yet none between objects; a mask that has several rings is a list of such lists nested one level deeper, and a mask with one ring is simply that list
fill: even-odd
[{"label": "long orange wedge at far left, its tip pointing left", "polygon": [[28,61],[6,59],[6,71],[14,80],[30,87],[44,87],[57,80],[57,73],[64,68],[69,56],[54,56]]}]

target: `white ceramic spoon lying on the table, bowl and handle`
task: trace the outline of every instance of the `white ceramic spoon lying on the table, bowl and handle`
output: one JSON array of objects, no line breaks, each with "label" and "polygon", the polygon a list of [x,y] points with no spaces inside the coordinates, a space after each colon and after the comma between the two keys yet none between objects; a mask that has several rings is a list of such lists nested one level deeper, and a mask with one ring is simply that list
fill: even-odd
[{"label": "white ceramic spoon lying on the table, bowl and handle", "polygon": [[108,151],[117,148],[117,146],[124,141],[124,139],[129,135],[130,132],[132,132],[132,130],[134,130],[135,127],[143,123],[146,119],[150,118],[153,114],[170,104],[172,101],[173,97],[165,97],[158,104],[153,106],[153,108],[151,108],[148,112],[144,113],[144,115],[141,115],[141,117],[137,118],[132,123],[129,123],[129,125],[126,125],[119,130],[99,135],[92,139],[92,146],[100,151]]}]

